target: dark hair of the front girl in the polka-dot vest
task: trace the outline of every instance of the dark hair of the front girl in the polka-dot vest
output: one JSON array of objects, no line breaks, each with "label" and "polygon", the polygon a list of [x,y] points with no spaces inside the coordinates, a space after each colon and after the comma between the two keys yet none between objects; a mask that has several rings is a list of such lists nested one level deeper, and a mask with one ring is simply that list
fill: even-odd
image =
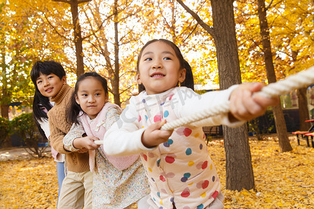
[{"label": "dark hair of the front girl in the polka-dot vest", "polygon": [[[186,86],[188,88],[192,88],[194,90],[194,81],[193,81],[193,72],[192,69],[190,68],[190,65],[188,64],[188,62],[184,59],[184,57],[181,54],[181,51],[179,49],[179,47],[177,47],[177,45],[174,44],[174,42],[171,42],[170,40],[166,40],[163,38],[160,39],[153,39],[153,40],[149,40],[149,42],[147,42],[144,47],[142,47],[140,54],[138,55],[137,58],[137,73],[139,72],[139,65],[140,65],[140,59],[142,56],[142,53],[144,51],[144,49],[150,45],[153,42],[157,42],[157,41],[161,41],[164,42],[165,44],[169,45],[170,47],[172,47],[172,49],[174,50],[174,53],[176,54],[177,58],[179,59],[179,63],[180,63],[180,69],[182,68],[186,68],[186,79],[184,80],[184,82],[181,83],[181,86]],[[145,87],[143,84],[138,85],[138,91],[142,92],[145,90]]]}]

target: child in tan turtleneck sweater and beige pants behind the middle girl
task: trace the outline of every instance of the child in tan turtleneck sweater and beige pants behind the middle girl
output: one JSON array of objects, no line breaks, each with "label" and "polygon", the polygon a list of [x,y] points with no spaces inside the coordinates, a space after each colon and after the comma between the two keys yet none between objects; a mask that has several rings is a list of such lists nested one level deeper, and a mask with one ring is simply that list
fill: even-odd
[{"label": "child in tan turtleneck sweater and beige pants behind the middle girl", "polygon": [[[63,137],[70,130],[71,124],[66,120],[66,109],[73,95],[73,88],[66,83],[66,72],[55,61],[38,61],[36,86],[41,94],[55,102],[48,111],[50,124],[50,143],[58,153],[66,154],[66,177],[63,180],[57,208],[91,208],[92,173],[89,171],[89,153],[87,150],[70,152],[63,147]],[[64,71],[62,78],[49,69],[60,68]]]}]

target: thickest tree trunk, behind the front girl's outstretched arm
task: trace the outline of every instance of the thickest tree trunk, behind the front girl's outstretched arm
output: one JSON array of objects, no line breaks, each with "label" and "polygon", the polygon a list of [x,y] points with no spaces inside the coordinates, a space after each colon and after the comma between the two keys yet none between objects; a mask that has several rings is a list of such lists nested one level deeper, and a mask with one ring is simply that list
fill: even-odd
[{"label": "thickest tree trunk, behind the front girl's outstretched arm", "polygon": [[[241,84],[232,0],[211,0],[220,89]],[[254,176],[246,125],[223,127],[226,189],[253,189]]]}]

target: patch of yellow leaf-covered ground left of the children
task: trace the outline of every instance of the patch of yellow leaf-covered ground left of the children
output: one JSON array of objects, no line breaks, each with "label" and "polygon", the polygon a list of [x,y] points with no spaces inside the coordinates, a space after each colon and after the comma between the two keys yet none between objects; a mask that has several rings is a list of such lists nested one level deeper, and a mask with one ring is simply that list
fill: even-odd
[{"label": "patch of yellow leaf-covered ground left of the children", "polygon": [[57,208],[57,164],[52,157],[0,162],[0,208]]}]

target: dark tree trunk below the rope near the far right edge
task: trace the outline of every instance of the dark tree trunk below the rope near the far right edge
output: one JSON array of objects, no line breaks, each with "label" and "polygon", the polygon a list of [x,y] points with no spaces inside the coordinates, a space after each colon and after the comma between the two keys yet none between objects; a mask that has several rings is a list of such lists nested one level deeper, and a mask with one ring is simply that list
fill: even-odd
[{"label": "dark tree trunk below the rope near the far right edge", "polygon": [[300,120],[299,130],[304,130],[304,131],[307,131],[311,127],[311,123],[304,122],[310,119],[310,116],[308,115],[308,100],[306,98],[306,89],[307,88],[300,88],[297,91],[298,104],[299,104],[299,120]]}]

